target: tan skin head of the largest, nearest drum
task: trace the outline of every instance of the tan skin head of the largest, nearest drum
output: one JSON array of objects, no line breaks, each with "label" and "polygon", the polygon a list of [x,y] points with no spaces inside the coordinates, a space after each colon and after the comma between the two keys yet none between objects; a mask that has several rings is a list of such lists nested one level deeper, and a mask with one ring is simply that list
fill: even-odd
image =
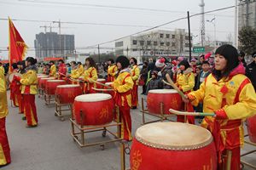
[{"label": "tan skin head of the largest, nearest drum", "polygon": [[212,143],[205,128],[181,122],[155,122],[138,127],[135,138],[162,150],[196,150]]}]

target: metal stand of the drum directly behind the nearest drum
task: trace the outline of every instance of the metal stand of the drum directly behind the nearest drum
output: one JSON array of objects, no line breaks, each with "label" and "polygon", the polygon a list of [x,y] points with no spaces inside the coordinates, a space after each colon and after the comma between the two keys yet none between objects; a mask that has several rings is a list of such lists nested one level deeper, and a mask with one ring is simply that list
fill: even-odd
[{"label": "metal stand of the drum directly behind the nearest drum", "polygon": [[[171,117],[173,116],[172,114],[164,114],[164,103],[160,102],[160,114],[152,114],[152,113],[149,113],[148,110],[146,110],[144,108],[144,99],[142,98],[142,110],[141,112],[143,113],[143,125],[144,124],[148,124],[148,123],[151,123],[151,122],[163,122],[163,121],[171,121],[170,119],[168,119],[168,117]],[[160,119],[158,120],[155,120],[155,121],[151,121],[151,122],[145,122],[145,114],[148,114],[148,115],[151,115],[151,116],[156,116]]]}]

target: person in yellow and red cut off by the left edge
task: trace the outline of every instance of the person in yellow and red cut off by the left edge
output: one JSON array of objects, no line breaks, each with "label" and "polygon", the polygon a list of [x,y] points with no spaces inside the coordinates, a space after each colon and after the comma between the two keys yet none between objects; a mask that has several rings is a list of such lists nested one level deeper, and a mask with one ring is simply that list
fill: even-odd
[{"label": "person in yellow and red cut off by the left edge", "polygon": [[9,142],[5,129],[5,117],[8,115],[6,82],[4,71],[0,69],[0,167],[11,162]]}]

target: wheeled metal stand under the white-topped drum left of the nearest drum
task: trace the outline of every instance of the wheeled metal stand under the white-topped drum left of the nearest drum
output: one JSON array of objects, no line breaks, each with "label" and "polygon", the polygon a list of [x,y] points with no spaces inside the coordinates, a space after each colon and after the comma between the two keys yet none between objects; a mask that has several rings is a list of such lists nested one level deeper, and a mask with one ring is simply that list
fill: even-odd
[{"label": "wheeled metal stand under the white-topped drum left of the nearest drum", "polygon": [[[86,114],[84,116],[83,111],[80,111],[80,120],[81,120],[81,122],[83,122],[83,120],[85,118],[86,118]],[[120,129],[121,129],[122,123],[120,122],[120,118],[119,118],[119,107],[117,107],[117,121],[116,122],[113,121],[109,124],[98,125],[98,126],[84,126],[83,123],[81,123],[81,125],[79,125],[75,121],[75,119],[73,117],[73,113],[72,113],[72,116],[69,120],[71,122],[71,128],[72,128],[71,136],[73,137],[73,140],[75,142],[77,142],[81,148],[99,144],[102,147],[102,150],[104,150],[105,144],[112,143],[112,142],[117,142],[117,141],[121,140]],[[114,120],[114,118],[113,118],[113,120]],[[77,131],[79,131],[79,132],[76,132],[75,127],[77,128]],[[108,127],[117,127],[117,133],[111,132],[108,129]],[[101,142],[95,142],[95,143],[86,143],[85,138],[84,138],[84,134],[85,133],[93,133],[93,132],[97,132],[97,131],[102,131],[102,137],[106,137],[106,134],[109,133],[114,137],[114,139],[109,139],[109,140],[105,140],[105,141],[101,141]],[[80,137],[79,137],[79,135],[80,135]]]}]

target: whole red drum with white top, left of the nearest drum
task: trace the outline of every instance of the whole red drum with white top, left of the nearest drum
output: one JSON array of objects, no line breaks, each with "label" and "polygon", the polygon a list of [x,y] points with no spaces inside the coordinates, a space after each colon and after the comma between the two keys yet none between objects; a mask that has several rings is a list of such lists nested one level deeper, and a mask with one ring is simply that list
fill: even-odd
[{"label": "whole red drum with white top, left of the nearest drum", "polygon": [[73,102],[73,115],[81,124],[80,111],[84,115],[83,125],[104,125],[113,121],[113,99],[110,94],[79,95]]}]

